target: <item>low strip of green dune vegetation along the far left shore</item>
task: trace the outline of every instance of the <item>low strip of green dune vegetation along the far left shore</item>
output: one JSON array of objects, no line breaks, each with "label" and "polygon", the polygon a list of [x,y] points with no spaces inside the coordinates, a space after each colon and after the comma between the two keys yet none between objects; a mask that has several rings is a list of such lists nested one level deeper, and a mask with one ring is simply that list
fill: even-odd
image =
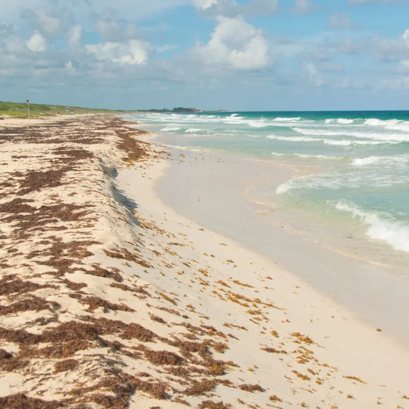
[{"label": "low strip of green dune vegetation along the far left shore", "polygon": [[[78,106],[65,105],[43,105],[30,103],[30,117],[45,117],[57,115],[73,115],[73,113],[133,113],[135,111],[99,109],[99,108],[82,108]],[[0,118],[1,117],[27,117],[27,103],[3,102],[0,101]]]}]

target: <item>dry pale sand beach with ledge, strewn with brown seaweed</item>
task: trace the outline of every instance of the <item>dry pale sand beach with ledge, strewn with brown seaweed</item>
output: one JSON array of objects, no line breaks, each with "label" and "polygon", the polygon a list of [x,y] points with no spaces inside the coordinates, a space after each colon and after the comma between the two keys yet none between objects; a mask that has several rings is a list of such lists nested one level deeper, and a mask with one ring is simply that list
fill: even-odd
[{"label": "dry pale sand beach with ledge, strewn with brown seaweed", "polygon": [[127,125],[0,127],[0,407],[409,407],[407,351],[166,207]]}]

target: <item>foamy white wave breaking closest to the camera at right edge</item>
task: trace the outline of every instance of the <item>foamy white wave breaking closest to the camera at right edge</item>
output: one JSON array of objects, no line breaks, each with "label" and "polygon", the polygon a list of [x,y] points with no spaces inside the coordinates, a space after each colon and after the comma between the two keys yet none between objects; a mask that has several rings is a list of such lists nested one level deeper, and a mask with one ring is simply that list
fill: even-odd
[{"label": "foamy white wave breaking closest to the camera at right edge", "polygon": [[372,239],[382,240],[395,250],[409,252],[409,226],[403,221],[392,218],[389,214],[369,212],[360,209],[353,203],[340,200],[335,208],[349,212],[369,227],[367,235]]}]

